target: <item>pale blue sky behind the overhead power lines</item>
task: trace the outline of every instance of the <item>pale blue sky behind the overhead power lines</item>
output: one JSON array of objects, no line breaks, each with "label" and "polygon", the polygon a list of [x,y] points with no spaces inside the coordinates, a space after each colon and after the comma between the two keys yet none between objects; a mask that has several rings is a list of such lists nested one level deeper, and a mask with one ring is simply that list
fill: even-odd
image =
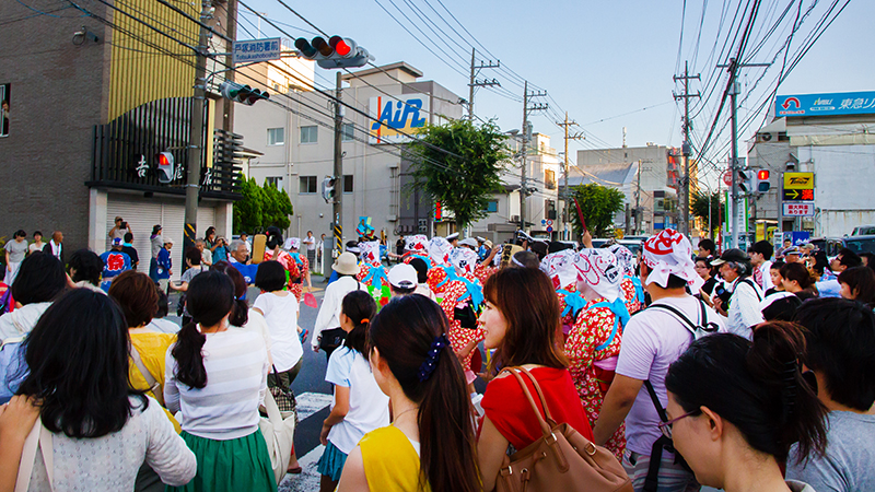
[{"label": "pale blue sky behind the overhead power lines", "polygon": [[[569,112],[571,119],[583,125],[582,129],[587,136],[586,141],[572,143],[572,149],[619,147],[623,127],[627,128],[629,145],[643,145],[646,142],[679,145],[680,106],[672,98],[672,91],[679,86],[672,80],[672,75],[679,73],[676,72],[678,61],[679,70],[682,70],[686,59],[696,60],[695,66],[691,65],[691,73],[702,74],[701,82],[691,82],[691,91],[705,92],[711,85],[718,86],[715,94],[708,98],[709,104],[693,119],[693,128],[701,133],[699,139],[703,140],[726,81],[724,72],[715,70],[716,57],[708,55],[715,45],[720,48],[726,39],[728,22],[742,0],[690,0],[687,2],[686,13],[682,0],[561,0],[540,4],[522,1],[442,1],[443,4],[438,0],[287,1],[287,4],[329,34],[355,39],[376,57],[375,63],[388,65],[404,60],[422,70],[425,80],[434,80],[467,98],[466,67],[470,62],[469,46],[475,42],[446,13],[448,10],[479,43],[501,59],[503,67],[549,93],[549,98],[539,101],[547,102],[552,109],[535,115],[533,121],[535,131],[550,134],[553,147],[561,150],[562,131],[553,122],[563,110]],[[801,13],[804,14],[813,2],[814,0],[803,0]],[[289,34],[312,37],[312,27],[277,0],[249,0],[246,3],[270,19],[295,26],[283,26]],[[703,3],[707,5],[704,16]],[[742,11],[748,1],[743,3]],[[814,7],[793,38],[791,56],[830,3],[820,1]],[[841,8],[843,3],[843,0],[840,1],[838,7]],[[405,32],[381,5],[416,36]],[[415,11],[411,5],[416,5],[419,11]],[[775,33],[766,38],[769,27],[788,7],[788,13]],[[797,7],[798,3],[791,4],[791,0],[762,0],[754,24],[752,40],[748,45],[750,48],[746,52],[750,52],[759,40],[765,38],[766,42],[751,61],[771,60],[790,33]],[[405,19],[399,10],[413,22]],[[241,11],[247,12],[243,7]],[[417,13],[428,16],[429,22],[433,21],[434,25],[427,24]],[[684,43],[678,56],[681,15],[685,16]],[[721,15],[724,16],[724,25],[719,28]],[[244,15],[244,19],[242,25],[255,31],[248,21],[255,22],[256,17],[249,14]],[[740,16],[738,19],[740,22]],[[868,54],[873,45],[873,19],[875,2],[852,1],[786,78],[779,93],[875,90],[873,58]],[[427,35],[422,35],[415,25]],[[435,36],[428,25],[438,31],[440,36]],[[261,28],[264,37],[281,35],[264,22]],[[241,32],[240,36],[244,38],[246,34]],[[417,39],[422,40],[440,57],[429,52]],[[475,46],[478,48],[478,59],[482,57],[494,60],[495,57],[481,52],[476,43]],[[442,59],[450,60],[448,65]],[[773,80],[780,71],[782,59],[782,56],[778,57],[777,65],[766,72],[756,89],[752,86],[762,69],[746,69],[742,72],[739,80],[743,94],[739,101],[748,92],[750,96],[739,110],[740,118],[746,118],[758,106],[755,103],[765,101],[768,92],[774,89]],[[320,71],[325,78],[317,78],[317,82],[330,85],[328,81],[334,81],[334,74]],[[716,80],[713,79],[715,71]],[[504,130],[520,128],[522,103],[509,98],[518,98],[522,95],[518,79],[505,70],[487,70],[482,72],[482,77],[497,78],[503,89],[501,94],[479,90],[476,95],[476,114],[485,119],[495,118]],[[712,81],[711,85],[705,86],[709,81]],[[699,103],[692,104],[698,110]],[[640,110],[645,107],[649,109]],[[631,114],[619,116],[627,113]],[[600,121],[603,119],[606,120]],[[742,137],[748,138],[752,134],[760,121],[762,116],[752,118],[750,128]],[[728,130],[720,133],[718,140],[722,142],[727,138]],[[715,154],[714,159],[725,157],[716,157]]]}]

